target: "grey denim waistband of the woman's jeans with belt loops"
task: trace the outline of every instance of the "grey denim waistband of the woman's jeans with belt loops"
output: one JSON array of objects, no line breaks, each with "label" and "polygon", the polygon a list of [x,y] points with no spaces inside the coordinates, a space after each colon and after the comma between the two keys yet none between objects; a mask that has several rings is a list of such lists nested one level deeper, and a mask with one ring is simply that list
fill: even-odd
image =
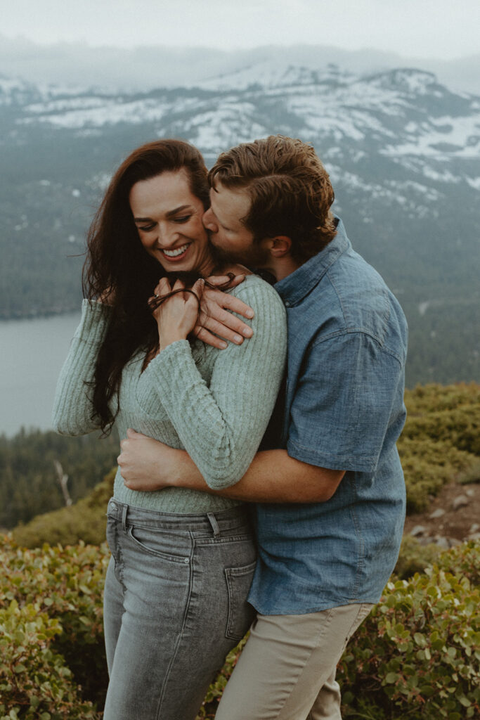
[{"label": "grey denim waistband of the woman's jeans with belt loops", "polygon": [[158,510],[135,508],[121,503],[116,498],[109,500],[107,515],[121,521],[124,526],[141,523],[142,527],[166,528],[169,530],[210,530],[217,535],[220,531],[232,530],[250,522],[248,506],[234,505],[227,510],[212,513],[161,513]]}]

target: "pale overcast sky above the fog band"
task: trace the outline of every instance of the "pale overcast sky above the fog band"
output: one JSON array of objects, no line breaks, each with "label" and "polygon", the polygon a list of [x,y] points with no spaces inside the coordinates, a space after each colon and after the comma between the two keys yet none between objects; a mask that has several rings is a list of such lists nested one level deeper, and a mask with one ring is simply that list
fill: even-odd
[{"label": "pale overcast sky above the fog band", "polygon": [[479,53],[479,0],[0,0],[1,34],[132,48],[252,48],[296,43]]}]

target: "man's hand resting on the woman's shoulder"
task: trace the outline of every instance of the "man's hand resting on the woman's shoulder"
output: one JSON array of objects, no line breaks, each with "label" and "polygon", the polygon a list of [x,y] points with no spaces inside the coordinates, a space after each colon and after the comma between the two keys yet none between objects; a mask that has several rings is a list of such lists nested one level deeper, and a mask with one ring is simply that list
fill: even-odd
[{"label": "man's hand resting on the woman's shoulder", "polygon": [[[230,287],[236,287],[244,279],[245,275],[235,276]],[[207,280],[210,284],[222,285],[228,281],[228,277],[212,276]],[[232,312],[228,312],[229,310],[243,315],[244,318],[253,318],[254,314],[252,308],[237,297],[221,290],[205,287],[201,297],[199,322],[194,328],[196,337],[207,345],[212,345],[220,350],[227,347],[225,340],[235,343],[235,345],[241,345],[243,338],[251,338],[252,328],[245,325],[236,315],[232,315]]]}]

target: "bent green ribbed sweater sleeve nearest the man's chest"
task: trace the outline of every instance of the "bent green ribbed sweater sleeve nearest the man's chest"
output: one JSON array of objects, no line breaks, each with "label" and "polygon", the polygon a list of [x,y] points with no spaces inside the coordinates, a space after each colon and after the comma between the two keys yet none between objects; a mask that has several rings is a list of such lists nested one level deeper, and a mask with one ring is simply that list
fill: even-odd
[{"label": "bent green ribbed sweater sleeve nearest the man's chest", "polygon": [[178,436],[213,490],[245,474],[266,431],[286,358],[286,313],[266,282],[249,277],[235,289],[253,307],[253,337],[217,351],[212,379],[196,368],[188,341],[176,341],[148,366],[153,387]]}]

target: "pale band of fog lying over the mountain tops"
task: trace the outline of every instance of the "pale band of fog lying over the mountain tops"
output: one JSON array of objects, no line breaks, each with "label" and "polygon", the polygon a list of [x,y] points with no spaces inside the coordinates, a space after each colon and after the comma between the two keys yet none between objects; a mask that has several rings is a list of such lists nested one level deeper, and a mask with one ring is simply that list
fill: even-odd
[{"label": "pale band of fog lying over the mountain tops", "polygon": [[231,51],[162,46],[127,50],[91,47],[81,42],[39,45],[22,37],[12,40],[0,34],[0,72],[35,83],[143,91],[159,86],[192,86],[265,62],[289,63],[317,71],[333,63],[359,73],[420,68],[435,73],[441,83],[456,91],[480,94],[480,55],[446,61],[319,45],[269,45]]}]

